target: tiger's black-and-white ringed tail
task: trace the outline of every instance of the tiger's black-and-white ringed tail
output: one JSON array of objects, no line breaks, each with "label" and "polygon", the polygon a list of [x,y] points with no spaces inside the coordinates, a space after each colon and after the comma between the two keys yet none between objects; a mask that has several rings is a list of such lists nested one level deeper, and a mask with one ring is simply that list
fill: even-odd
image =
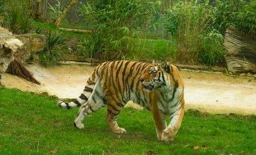
[{"label": "tiger's black-and-white ringed tail", "polygon": [[99,77],[95,74],[95,70],[94,70],[92,75],[88,79],[82,94],[78,98],[76,98],[74,101],[71,101],[71,102],[65,102],[63,100],[59,100],[57,104],[58,107],[61,107],[64,109],[72,109],[72,108],[80,107],[81,105],[85,104],[88,98],[90,97],[97,80],[99,80]]}]

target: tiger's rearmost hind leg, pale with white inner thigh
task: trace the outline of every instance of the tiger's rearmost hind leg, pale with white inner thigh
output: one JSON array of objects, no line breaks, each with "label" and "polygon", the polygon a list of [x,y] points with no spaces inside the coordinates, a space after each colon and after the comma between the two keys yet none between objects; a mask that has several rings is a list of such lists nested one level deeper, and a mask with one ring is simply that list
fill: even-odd
[{"label": "tiger's rearmost hind leg, pale with white inner thigh", "polygon": [[97,81],[88,101],[84,105],[82,105],[80,110],[78,111],[74,121],[74,126],[80,129],[84,128],[84,124],[82,123],[82,121],[85,119],[85,117],[105,106],[106,99],[103,95],[100,81]]}]

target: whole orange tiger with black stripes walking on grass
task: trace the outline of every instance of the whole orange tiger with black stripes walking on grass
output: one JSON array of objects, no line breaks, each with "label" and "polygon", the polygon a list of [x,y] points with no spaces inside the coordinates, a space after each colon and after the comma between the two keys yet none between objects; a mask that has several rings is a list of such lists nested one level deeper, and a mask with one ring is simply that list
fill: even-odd
[{"label": "whole orange tiger with black stripes walking on grass", "polygon": [[[107,107],[107,123],[113,133],[126,130],[116,122],[128,101],[152,112],[156,137],[173,141],[184,115],[184,84],[178,68],[168,62],[111,61],[95,67],[82,94],[74,101],[58,101],[64,109],[80,107],[74,126],[82,129],[82,121],[92,112]],[[170,117],[167,125],[165,116]]]}]

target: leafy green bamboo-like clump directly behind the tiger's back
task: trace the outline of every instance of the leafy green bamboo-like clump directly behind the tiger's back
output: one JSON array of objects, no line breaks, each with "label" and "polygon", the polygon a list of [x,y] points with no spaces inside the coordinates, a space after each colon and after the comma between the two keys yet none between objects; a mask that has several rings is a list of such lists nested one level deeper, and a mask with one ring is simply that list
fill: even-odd
[{"label": "leafy green bamboo-like clump directly behind the tiger's back", "polygon": [[143,37],[152,26],[152,15],[159,1],[114,0],[87,1],[81,12],[93,33],[86,38],[84,55],[103,59],[124,59],[133,50],[132,38]]}]

